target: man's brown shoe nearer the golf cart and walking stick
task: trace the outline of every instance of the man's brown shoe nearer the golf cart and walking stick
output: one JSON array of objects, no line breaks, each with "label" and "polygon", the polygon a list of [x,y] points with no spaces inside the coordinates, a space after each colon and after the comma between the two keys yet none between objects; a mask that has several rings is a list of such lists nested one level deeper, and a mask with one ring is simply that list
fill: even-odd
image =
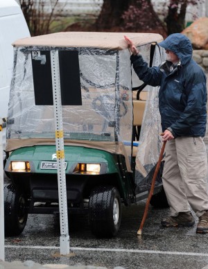
[{"label": "man's brown shoe nearer the golf cart and walking stick", "polygon": [[177,227],[178,225],[191,227],[194,225],[194,223],[195,220],[191,212],[180,212],[176,217],[170,216],[169,218],[167,218],[166,220],[162,220],[161,222],[163,227]]}]

